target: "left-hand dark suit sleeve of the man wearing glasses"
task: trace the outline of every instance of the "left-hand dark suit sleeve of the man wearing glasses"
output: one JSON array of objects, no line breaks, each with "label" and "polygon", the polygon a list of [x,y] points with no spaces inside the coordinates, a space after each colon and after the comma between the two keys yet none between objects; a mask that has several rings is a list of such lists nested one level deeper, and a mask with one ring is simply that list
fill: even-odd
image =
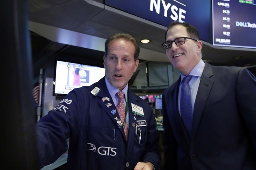
[{"label": "left-hand dark suit sleeve of the man wearing glasses", "polygon": [[169,117],[167,113],[168,106],[166,103],[171,101],[165,100],[165,94],[162,96],[162,110],[163,110],[163,127],[164,127],[164,167],[165,170],[176,170],[177,169],[177,141],[172,132],[172,127],[169,122]]}]

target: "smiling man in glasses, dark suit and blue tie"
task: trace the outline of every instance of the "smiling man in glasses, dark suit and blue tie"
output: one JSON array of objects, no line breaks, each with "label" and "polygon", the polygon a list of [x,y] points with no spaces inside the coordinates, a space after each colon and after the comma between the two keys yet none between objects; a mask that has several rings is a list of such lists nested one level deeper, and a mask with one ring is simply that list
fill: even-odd
[{"label": "smiling man in glasses, dark suit and blue tie", "polygon": [[165,169],[256,170],[255,76],[204,63],[199,33],[187,23],[173,22],[163,46],[180,71],[162,97]]}]

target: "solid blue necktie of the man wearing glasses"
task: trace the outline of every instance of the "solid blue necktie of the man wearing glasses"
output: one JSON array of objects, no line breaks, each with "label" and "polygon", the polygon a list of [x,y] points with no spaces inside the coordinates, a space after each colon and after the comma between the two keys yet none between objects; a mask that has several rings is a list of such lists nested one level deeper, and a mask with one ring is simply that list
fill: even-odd
[{"label": "solid blue necktie of the man wearing glasses", "polygon": [[180,95],[180,115],[183,124],[187,130],[188,136],[191,138],[192,133],[192,122],[193,122],[193,112],[191,105],[191,92],[188,82],[191,80],[192,75],[188,75],[183,78],[183,84],[181,87]]}]

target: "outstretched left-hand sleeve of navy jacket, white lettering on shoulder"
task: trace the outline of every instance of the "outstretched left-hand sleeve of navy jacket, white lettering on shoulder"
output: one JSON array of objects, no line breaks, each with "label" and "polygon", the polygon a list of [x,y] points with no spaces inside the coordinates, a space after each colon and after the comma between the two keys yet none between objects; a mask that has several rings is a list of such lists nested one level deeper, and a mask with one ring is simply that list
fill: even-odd
[{"label": "outstretched left-hand sleeve of navy jacket, white lettering on shoulder", "polygon": [[[76,91],[76,92],[75,92]],[[68,149],[67,139],[73,123],[80,127],[79,116],[77,120],[73,116],[81,113],[84,107],[84,95],[79,90],[71,91],[53,110],[42,117],[37,123],[37,142],[40,160],[40,168],[53,163]],[[78,100],[77,98],[80,98]],[[70,102],[71,101],[71,102]],[[84,109],[83,109],[84,110]],[[72,123],[73,122],[73,123]],[[77,133],[74,129],[72,133]]]}]

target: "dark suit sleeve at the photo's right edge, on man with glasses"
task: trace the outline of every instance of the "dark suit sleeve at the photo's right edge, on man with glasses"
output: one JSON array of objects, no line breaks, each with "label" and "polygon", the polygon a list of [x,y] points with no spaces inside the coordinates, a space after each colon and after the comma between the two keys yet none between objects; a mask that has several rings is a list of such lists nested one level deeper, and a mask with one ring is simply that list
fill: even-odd
[{"label": "dark suit sleeve at the photo's right edge, on man with glasses", "polygon": [[238,109],[256,150],[256,78],[247,69],[238,74],[236,92]]}]

